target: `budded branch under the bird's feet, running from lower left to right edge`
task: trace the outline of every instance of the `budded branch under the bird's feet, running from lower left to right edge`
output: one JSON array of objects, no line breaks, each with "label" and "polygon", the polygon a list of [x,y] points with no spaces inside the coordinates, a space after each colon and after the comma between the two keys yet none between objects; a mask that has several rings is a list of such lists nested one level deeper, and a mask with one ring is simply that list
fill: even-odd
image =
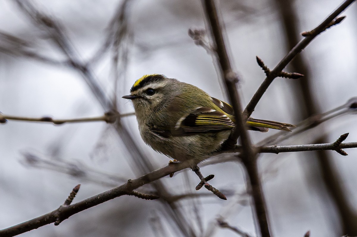
[{"label": "budded branch under the bird's feet, running from lower left to right edge", "polygon": [[[319,147],[319,149],[327,149],[328,148],[331,150],[357,147],[357,142],[341,143],[344,139],[346,139],[346,137],[347,137],[347,134],[344,134],[336,142],[328,143],[328,144],[305,145],[306,147],[304,149],[299,148],[299,146],[285,146],[285,147],[270,146],[270,147],[266,147],[266,148],[260,147],[257,149],[260,151],[263,151],[263,152],[270,151],[272,153],[279,153],[279,152],[292,151],[292,149],[295,149],[296,151],[299,151],[299,149],[301,149],[303,151],[312,151],[312,150],[314,150],[314,147]],[[310,147],[307,147],[307,146],[310,146]],[[292,148],[292,147],[296,147],[296,148]],[[266,151],[264,151],[264,149],[266,149]],[[277,151],[276,149],[278,149],[278,152],[276,152]],[[142,195],[139,193],[133,193],[133,191],[135,189],[139,188],[140,186],[143,186],[143,185],[150,183],[154,180],[160,179],[162,177],[165,177],[166,175],[170,175],[171,173],[175,173],[179,170],[182,170],[182,169],[185,169],[188,167],[192,167],[192,166],[193,166],[193,164],[192,164],[192,161],[190,161],[190,160],[188,160],[186,162],[180,162],[180,163],[167,165],[166,167],[163,167],[161,169],[150,172],[150,173],[143,175],[137,179],[128,180],[127,183],[125,183],[117,188],[111,189],[104,193],[101,193],[96,196],[85,199],[83,201],[77,202],[76,204],[62,205],[58,209],[56,209],[46,215],[34,218],[30,221],[26,221],[24,223],[6,228],[4,230],[0,230],[0,234],[3,237],[15,236],[15,235],[19,235],[20,233],[24,233],[24,232],[33,230],[35,228],[47,225],[52,222],[60,223],[61,221],[69,218],[70,216],[72,216],[80,211],[86,210],[90,207],[96,206],[100,203],[103,203],[105,201],[111,200],[115,197],[122,196],[122,195],[135,195],[135,196],[139,196],[141,198],[147,197],[147,199],[150,199],[150,200],[155,199],[156,196],[154,196],[154,195],[146,195],[145,196],[145,195]],[[205,178],[203,178],[203,176],[202,176],[202,181],[204,179]],[[205,181],[203,181],[203,182],[205,182]],[[65,202],[65,204],[66,203],[67,203],[67,201]]]}]

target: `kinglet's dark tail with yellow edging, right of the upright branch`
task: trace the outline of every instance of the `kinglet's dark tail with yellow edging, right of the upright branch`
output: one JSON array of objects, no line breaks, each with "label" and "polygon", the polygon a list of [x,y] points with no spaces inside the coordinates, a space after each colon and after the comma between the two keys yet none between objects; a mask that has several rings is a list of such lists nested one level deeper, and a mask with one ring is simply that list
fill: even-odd
[{"label": "kinglet's dark tail with yellow edging, right of the upright branch", "polygon": [[260,131],[260,132],[267,132],[268,128],[291,132],[291,130],[289,128],[296,127],[296,126],[288,124],[288,123],[281,123],[281,122],[269,121],[269,120],[261,120],[261,119],[255,119],[252,117],[248,118],[247,126],[248,126],[248,130]]}]

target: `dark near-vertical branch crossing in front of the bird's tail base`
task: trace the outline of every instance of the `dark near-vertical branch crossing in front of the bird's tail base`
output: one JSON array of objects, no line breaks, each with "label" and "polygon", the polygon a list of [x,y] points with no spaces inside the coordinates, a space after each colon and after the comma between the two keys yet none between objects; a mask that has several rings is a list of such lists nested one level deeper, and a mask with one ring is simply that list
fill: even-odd
[{"label": "dark near-vertical branch crossing in front of the bird's tail base", "polygon": [[221,28],[223,24],[221,24],[219,21],[214,0],[203,0],[202,3],[206,12],[207,19],[210,23],[210,30],[214,42],[217,47],[216,52],[221,68],[221,78],[223,78],[225,81],[226,90],[231,100],[236,118],[236,127],[233,128],[229,138],[224,142],[223,149],[233,147],[237,143],[238,137],[241,137],[240,140],[243,147],[242,161],[245,165],[249,178],[249,183],[247,185],[250,185],[250,188],[252,189],[249,191],[251,191],[253,196],[256,217],[259,223],[259,230],[262,236],[270,237],[266,208],[258,175],[257,156],[251,148],[251,141],[247,131],[245,130],[245,123],[248,117],[243,118],[242,116],[240,97],[236,87],[238,76],[233,72],[231,62],[228,58],[227,48],[223,39]]}]

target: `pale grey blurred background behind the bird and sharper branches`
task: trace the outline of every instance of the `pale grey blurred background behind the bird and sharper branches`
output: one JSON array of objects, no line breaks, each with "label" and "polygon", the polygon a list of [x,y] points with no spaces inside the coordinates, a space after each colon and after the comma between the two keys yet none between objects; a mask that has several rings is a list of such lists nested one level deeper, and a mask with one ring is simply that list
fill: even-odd
[{"label": "pale grey blurred background behind the bird and sharper branches", "polygon": [[[36,0],[31,4],[62,26],[72,55],[87,66],[121,113],[133,112],[131,103],[121,96],[128,94],[136,79],[152,73],[191,83],[227,100],[212,56],[187,33],[190,28],[205,28],[200,1],[132,0],[126,1],[124,10],[123,1],[116,0]],[[300,32],[316,27],[340,4],[337,0],[218,1],[231,59],[242,78],[238,87],[243,106],[265,78],[255,56],[272,69],[302,39]],[[43,25],[31,20],[16,1],[0,0],[0,6],[0,111],[54,118],[106,112],[86,77],[68,65],[68,56]],[[305,79],[275,79],[253,117],[297,124],[357,95],[356,7],[351,5],[340,25],[323,32],[286,68],[305,74]],[[113,19],[119,20],[113,23]],[[114,37],[111,34],[117,29],[121,32]],[[135,116],[122,117],[121,122],[152,168],[167,164],[169,158],[144,144]],[[346,132],[350,132],[347,142],[357,141],[353,111],[278,144],[333,142]],[[274,133],[250,132],[254,143]],[[105,122],[54,126],[10,120],[0,125],[0,229],[56,209],[79,183],[74,201],[143,174],[124,144]],[[302,237],[308,230],[313,237],[347,232],[357,236],[357,225],[351,224],[357,223],[357,149],[346,152],[347,157],[334,151],[260,156],[273,236]],[[196,191],[198,178],[185,170],[160,180],[168,197],[193,194],[174,205],[122,196],[59,226],[47,225],[21,236],[237,236],[221,228],[217,218],[255,236],[241,164],[204,165],[201,171],[216,175],[210,183],[227,194],[228,201],[207,190]],[[146,185],[141,190],[155,189]]]}]

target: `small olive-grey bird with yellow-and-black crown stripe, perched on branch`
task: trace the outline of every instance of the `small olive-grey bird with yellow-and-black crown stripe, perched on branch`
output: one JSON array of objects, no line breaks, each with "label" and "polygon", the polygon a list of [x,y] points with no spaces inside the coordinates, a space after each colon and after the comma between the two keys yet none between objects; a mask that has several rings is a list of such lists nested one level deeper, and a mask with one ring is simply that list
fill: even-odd
[{"label": "small olive-grey bird with yellow-and-black crown stripe, perched on branch", "polygon": [[[176,160],[208,158],[235,127],[231,105],[200,88],[164,75],[144,75],[130,89],[140,135],[155,151]],[[247,129],[290,131],[287,123],[249,118]]]}]

